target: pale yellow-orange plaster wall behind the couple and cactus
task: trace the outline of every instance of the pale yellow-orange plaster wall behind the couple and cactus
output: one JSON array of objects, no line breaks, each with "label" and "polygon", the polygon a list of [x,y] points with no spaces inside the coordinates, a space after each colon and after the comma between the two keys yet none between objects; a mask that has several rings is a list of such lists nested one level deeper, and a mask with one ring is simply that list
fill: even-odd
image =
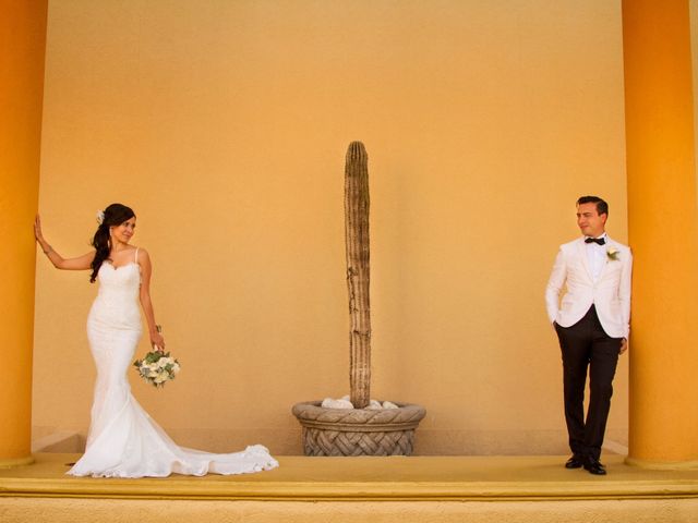
[{"label": "pale yellow-orange plaster wall behind the couple and cactus", "polygon": [[[81,254],[111,202],[183,370],[139,401],[188,446],[300,452],[348,389],[342,175],[369,151],[373,396],[419,453],[564,452],[543,289],[601,194],[626,239],[619,2],[51,2],[40,207]],[[34,424],[85,433],[87,273],[38,265]],[[142,342],[143,353],[147,343]],[[627,433],[627,360],[609,424]]]}]

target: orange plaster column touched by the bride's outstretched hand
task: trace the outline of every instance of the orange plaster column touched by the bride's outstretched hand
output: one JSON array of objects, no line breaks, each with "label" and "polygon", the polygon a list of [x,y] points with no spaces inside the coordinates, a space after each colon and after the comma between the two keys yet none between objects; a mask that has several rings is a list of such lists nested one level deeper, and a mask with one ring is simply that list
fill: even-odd
[{"label": "orange plaster column touched by the bride's outstretched hand", "polygon": [[47,0],[0,0],[0,467],[32,462],[32,345]]}]

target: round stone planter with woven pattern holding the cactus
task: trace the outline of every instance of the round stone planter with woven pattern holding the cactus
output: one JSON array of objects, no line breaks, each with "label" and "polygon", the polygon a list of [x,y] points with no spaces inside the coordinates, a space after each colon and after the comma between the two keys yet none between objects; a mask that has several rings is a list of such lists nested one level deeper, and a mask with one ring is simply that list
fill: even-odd
[{"label": "round stone planter with woven pattern holding the cactus", "polygon": [[293,405],[303,427],[305,455],[410,455],[414,430],[426,411],[397,403],[399,409],[324,409],[320,401]]}]

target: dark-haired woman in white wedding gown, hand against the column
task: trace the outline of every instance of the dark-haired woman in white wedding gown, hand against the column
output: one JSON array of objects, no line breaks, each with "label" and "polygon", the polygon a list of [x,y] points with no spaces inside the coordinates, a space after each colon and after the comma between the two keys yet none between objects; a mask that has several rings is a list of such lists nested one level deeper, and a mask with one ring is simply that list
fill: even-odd
[{"label": "dark-haired woman in white wedding gown, hand against the column", "polygon": [[36,217],[36,241],[58,269],[92,269],[89,281],[99,280],[99,292],[87,317],[87,338],[97,382],[92,423],[83,457],[68,471],[74,476],[165,477],[171,473],[202,476],[207,473],[243,474],[278,466],[268,450],[254,445],[242,452],[213,454],[178,447],[131,394],[127,369],[141,338],[137,301],[148,325],[151,344],[165,350],[151,300],[151,257],[130,244],[135,214],[111,204],[98,216],[87,254],[63,258],[44,239]]}]

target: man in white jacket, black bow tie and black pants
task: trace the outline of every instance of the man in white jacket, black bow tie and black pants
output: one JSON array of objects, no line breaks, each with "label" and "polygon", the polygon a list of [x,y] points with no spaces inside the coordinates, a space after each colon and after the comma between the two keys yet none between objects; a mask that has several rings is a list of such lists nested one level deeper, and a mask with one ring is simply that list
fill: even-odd
[{"label": "man in white jacket, black bow tie and black pants", "polygon": [[[630,319],[633,255],[605,233],[607,218],[609,204],[598,196],[577,200],[577,226],[583,236],[559,247],[545,290],[547,316],[563,356],[565,421],[573,452],[565,466],[583,466],[595,475],[606,473],[599,461],[601,443]],[[591,393],[585,419],[587,370]]]}]

